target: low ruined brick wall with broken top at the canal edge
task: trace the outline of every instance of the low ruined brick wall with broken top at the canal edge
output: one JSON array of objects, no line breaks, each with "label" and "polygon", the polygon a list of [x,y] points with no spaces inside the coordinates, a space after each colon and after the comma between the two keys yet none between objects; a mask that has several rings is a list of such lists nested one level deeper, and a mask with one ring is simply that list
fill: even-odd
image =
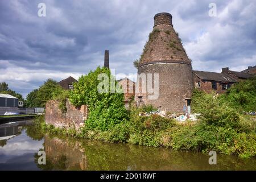
[{"label": "low ruined brick wall with broken top at the canal edge", "polygon": [[84,121],[88,117],[88,107],[82,105],[81,107],[73,106],[69,101],[66,102],[67,112],[59,108],[59,101],[48,101],[46,103],[45,121],[55,127],[75,127],[76,129],[84,125]]}]

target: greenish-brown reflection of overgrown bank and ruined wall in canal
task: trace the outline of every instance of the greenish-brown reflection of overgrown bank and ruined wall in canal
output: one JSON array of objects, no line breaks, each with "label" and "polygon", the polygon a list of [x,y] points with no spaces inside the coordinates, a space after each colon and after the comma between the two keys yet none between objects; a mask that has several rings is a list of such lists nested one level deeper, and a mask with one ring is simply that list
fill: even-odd
[{"label": "greenish-brown reflection of overgrown bank and ruined wall in canal", "polygon": [[171,151],[166,148],[104,143],[45,136],[49,168],[67,170],[251,170],[255,160],[218,155],[209,165],[208,155]]}]

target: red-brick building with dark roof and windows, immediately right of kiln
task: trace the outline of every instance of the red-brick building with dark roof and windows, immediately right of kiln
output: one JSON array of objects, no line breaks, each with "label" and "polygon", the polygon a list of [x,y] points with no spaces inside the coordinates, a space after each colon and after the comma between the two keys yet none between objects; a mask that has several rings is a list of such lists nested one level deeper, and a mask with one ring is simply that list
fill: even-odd
[{"label": "red-brick building with dark roof and windows, immediately right of kiln", "polygon": [[225,73],[203,71],[193,71],[193,81],[195,88],[205,90],[207,93],[212,91],[225,93],[232,84],[237,82],[233,77]]}]

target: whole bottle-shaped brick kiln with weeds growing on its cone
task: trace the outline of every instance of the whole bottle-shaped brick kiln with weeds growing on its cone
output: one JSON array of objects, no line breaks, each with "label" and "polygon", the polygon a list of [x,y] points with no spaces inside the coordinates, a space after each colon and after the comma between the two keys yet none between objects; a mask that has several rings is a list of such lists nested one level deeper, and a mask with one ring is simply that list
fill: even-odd
[{"label": "whole bottle-shaped brick kiln with weeds growing on its cone", "polygon": [[[140,83],[138,78],[139,89],[135,100],[156,107],[162,106],[161,110],[182,113],[184,105],[190,104],[193,89],[191,61],[172,26],[172,15],[158,13],[154,16],[154,21],[153,31],[139,60],[138,75],[159,73],[159,97],[150,100],[148,90],[141,93],[143,82]],[[154,82],[154,77],[152,81]]]}]

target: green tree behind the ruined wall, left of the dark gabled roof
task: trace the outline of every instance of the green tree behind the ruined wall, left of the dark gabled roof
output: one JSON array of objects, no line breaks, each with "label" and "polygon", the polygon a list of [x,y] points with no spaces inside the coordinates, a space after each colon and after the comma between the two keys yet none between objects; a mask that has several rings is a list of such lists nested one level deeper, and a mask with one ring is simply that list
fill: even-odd
[{"label": "green tree behind the ruined wall, left of the dark gabled roof", "polygon": [[57,84],[55,80],[48,78],[48,80],[39,87],[38,92],[33,94],[36,94],[36,103],[38,104],[38,106],[45,107],[47,101],[53,100],[55,97],[61,94],[63,90],[64,89],[61,88],[61,86]]}]

